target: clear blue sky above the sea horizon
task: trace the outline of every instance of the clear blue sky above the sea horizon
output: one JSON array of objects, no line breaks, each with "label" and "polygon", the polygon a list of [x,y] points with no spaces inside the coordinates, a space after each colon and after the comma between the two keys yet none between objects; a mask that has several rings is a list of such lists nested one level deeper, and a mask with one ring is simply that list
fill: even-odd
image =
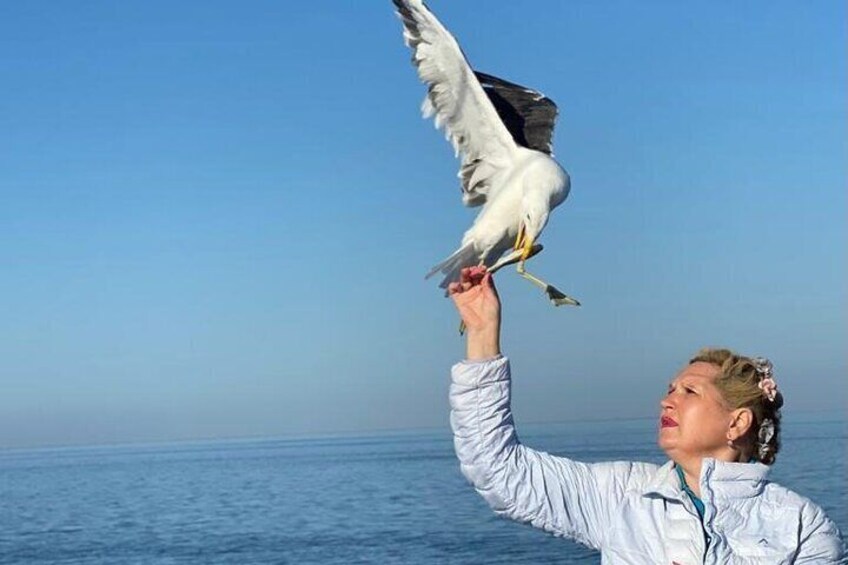
[{"label": "clear blue sky above the sea horizon", "polygon": [[[845,3],[431,0],[560,108],[504,271],[520,422],[649,417],[703,345],[846,406]],[[386,1],[0,8],[0,446],[446,426],[476,210]]]}]

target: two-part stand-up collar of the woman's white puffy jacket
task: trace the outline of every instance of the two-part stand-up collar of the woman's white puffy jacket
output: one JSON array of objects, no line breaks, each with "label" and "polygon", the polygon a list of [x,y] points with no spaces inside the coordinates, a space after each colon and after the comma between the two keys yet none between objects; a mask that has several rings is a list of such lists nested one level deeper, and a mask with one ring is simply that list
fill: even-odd
[{"label": "two-part stand-up collar of the woman's white puffy jacket", "polygon": [[[751,498],[762,492],[768,471],[769,467],[762,463],[726,463],[705,458],[701,464],[701,493],[710,491],[719,498]],[[672,500],[685,496],[674,470],[674,461],[654,472],[642,489],[642,495],[659,495]]]}]

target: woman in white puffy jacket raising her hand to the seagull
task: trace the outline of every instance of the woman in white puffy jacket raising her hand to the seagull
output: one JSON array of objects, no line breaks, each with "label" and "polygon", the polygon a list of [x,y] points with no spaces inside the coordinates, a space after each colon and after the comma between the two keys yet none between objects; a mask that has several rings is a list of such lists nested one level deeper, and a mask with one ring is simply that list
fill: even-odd
[{"label": "woman in white puffy jacket raising her hand to the seagull", "polygon": [[465,269],[448,293],[468,335],[452,372],[456,451],[495,512],[597,549],[603,563],[848,563],[821,508],[766,480],[783,402],[768,361],[704,350],[674,378],[660,403],[667,464],[579,463],[516,437],[491,275]]}]

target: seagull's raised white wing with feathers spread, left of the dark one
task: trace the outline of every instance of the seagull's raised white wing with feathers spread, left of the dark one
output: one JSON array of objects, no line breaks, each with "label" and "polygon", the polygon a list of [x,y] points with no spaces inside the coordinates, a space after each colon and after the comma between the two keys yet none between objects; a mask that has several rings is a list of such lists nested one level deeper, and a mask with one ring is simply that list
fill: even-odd
[{"label": "seagull's raised white wing with feathers spread, left of the dark one", "polygon": [[462,156],[462,201],[486,201],[493,176],[511,164],[517,145],[474,76],[456,40],[421,0],[392,0],[403,21],[412,62],[427,84],[424,117],[435,114],[454,150]]}]

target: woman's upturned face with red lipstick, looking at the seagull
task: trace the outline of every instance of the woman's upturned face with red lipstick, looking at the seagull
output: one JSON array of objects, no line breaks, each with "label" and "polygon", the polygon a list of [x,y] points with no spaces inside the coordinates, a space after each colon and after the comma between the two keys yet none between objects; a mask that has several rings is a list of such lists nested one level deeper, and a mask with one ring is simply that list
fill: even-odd
[{"label": "woman's upturned face with red lipstick, looking at the seagull", "polygon": [[668,385],[660,402],[658,443],[674,461],[717,457],[727,450],[732,414],[715,386],[718,373],[710,363],[692,363]]}]

